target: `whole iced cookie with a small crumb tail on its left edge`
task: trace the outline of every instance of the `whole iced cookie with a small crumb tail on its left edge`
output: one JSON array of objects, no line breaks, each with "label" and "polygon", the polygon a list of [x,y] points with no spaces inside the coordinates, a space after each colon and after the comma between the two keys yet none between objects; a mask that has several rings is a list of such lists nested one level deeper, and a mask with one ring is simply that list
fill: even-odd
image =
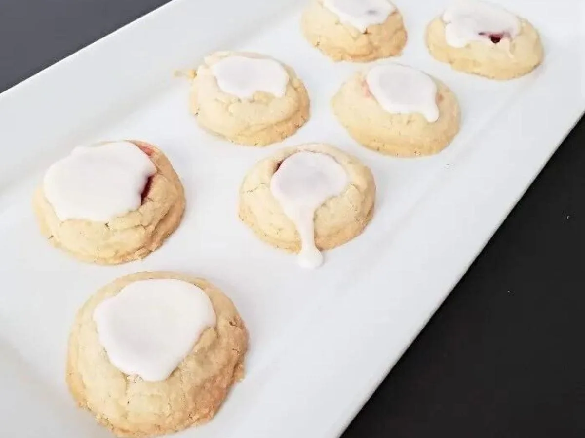
[{"label": "whole iced cookie with a small crumb tail on its left edge", "polygon": [[309,117],[309,96],[294,70],[254,53],[205,58],[190,93],[199,125],[226,140],[265,146],[294,134]]}]

